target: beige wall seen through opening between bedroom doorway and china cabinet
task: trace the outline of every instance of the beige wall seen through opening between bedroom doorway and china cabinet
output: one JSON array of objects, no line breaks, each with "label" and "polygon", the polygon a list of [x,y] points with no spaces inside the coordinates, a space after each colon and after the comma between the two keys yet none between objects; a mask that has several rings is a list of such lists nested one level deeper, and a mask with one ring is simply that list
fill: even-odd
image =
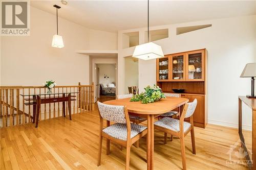
[{"label": "beige wall seen through opening between bedroom doorway and china cabinet", "polygon": [[139,61],[134,57],[124,59],[124,93],[129,94],[128,86],[139,86]]}]

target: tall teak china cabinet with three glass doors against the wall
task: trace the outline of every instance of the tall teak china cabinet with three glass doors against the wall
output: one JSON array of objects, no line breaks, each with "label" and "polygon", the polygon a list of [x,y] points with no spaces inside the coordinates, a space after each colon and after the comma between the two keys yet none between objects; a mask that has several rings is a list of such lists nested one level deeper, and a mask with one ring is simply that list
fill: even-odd
[{"label": "tall teak china cabinet with three glass doors against the wall", "polygon": [[198,105],[194,113],[194,125],[205,128],[207,125],[206,92],[206,49],[165,55],[157,59],[157,85],[163,92],[172,89],[185,89],[182,98]]}]

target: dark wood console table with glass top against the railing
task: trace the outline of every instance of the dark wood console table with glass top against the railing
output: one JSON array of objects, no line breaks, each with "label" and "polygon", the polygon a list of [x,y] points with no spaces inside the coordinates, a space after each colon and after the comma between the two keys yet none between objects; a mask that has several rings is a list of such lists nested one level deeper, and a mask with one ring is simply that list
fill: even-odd
[{"label": "dark wood console table with glass top against the railing", "polygon": [[[75,94],[79,92],[62,92],[62,93],[45,93],[45,94],[21,94],[22,96],[28,96],[28,99],[24,99],[25,101],[29,101],[25,103],[25,105],[33,105],[33,123],[35,123],[35,127],[38,127],[39,120],[39,112],[40,105],[47,103],[58,103],[62,102],[63,108],[65,108],[65,102],[68,103],[68,111],[69,111],[69,119],[71,120],[71,101],[75,101],[73,97]],[[32,98],[31,98],[32,96]],[[31,102],[32,101],[32,102]],[[65,109],[63,111],[63,116],[66,117]],[[51,114],[51,113],[49,113]]]}]

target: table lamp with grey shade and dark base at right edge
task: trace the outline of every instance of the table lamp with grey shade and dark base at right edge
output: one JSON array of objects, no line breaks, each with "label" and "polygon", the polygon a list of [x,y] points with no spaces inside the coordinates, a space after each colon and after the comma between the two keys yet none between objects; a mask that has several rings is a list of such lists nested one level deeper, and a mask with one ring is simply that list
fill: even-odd
[{"label": "table lamp with grey shade and dark base at right edge", "polygon": [[254,80],[256,77],[256,63],[246,64],[240,77],[250,77],[251,78],[251,95],[246,95],[246,97],[247,98],[256,98],[256,95],[254,95]]}]

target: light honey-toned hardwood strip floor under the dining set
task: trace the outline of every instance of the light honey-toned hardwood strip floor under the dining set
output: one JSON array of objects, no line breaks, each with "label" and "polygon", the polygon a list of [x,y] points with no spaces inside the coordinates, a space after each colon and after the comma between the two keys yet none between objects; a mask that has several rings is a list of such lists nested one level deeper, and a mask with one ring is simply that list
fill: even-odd
[{"label": "light honey-toned hardwood strip floor under the dining set", "polygon": [[[104,124],[105,126],[105,124]],[[0,129],[1,169],[124,169],[125,149],[111,143],[106,155],[103,139],[101,166],[97,166],[98,111],[53,118],[39,123]],[[246,169],[228,165],[230,145],[239,139],[238,130],[208,125],[195,127],[197,155],[192,154],[190,135],[185,137],[187,169]],[[164,133],[155,131],[155,169],[181,169],[180,140],[164,143]],[[234,147],[231,158],[236,160]],[[146,169],[146,138],[140,148],[131,148],[131,169]]]}]

